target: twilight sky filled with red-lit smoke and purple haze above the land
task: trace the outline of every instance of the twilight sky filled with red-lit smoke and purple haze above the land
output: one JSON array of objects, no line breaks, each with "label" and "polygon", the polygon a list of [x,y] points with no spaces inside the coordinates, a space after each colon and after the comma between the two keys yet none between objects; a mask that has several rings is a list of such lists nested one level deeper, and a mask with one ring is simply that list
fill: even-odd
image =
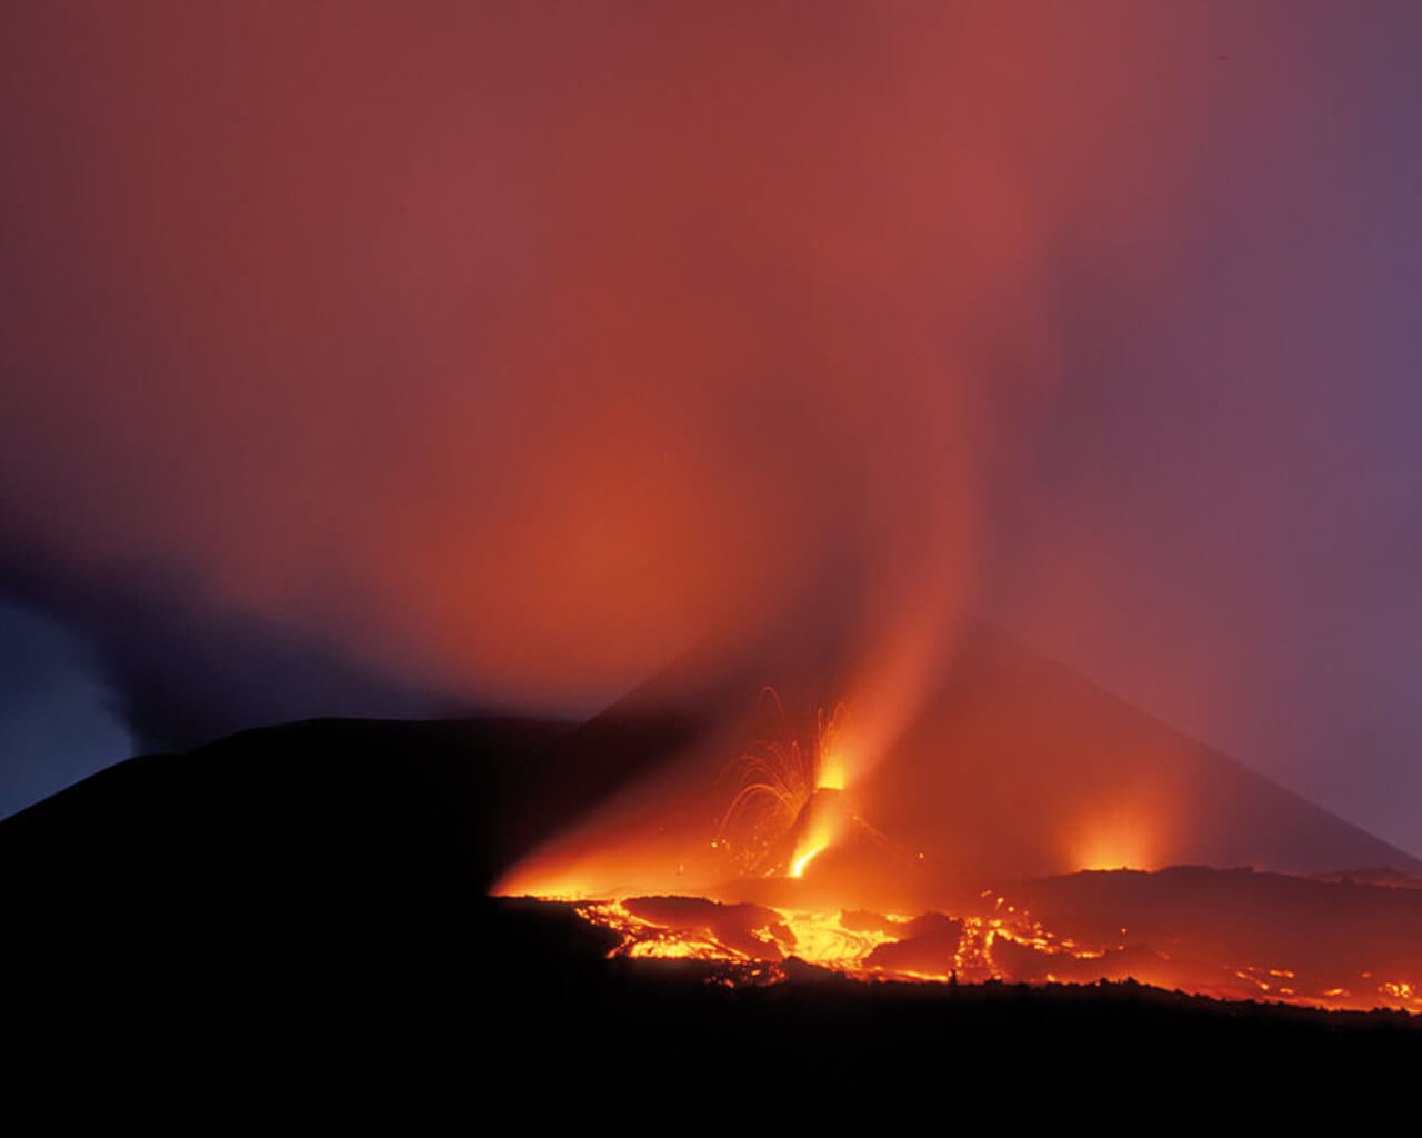
[{"label": "twilight sky filled with red-lit smoke and purple haze above the land", "polygon": [[6,4],[0,811],[586,711],[811,599],[886,690],[983,612],[1422,852],[1419,48],[1381,1]]}]

